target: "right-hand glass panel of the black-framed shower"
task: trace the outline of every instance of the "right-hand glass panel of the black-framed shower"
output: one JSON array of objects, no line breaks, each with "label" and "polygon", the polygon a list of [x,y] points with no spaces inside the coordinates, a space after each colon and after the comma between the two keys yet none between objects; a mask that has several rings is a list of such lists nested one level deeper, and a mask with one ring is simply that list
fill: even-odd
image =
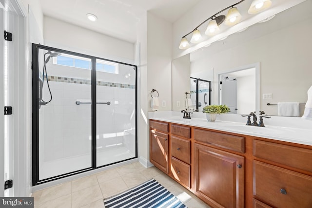
[{"label": "right-hand glass panel of the black-framed shower", "polygon": [[97,167],[137,155],[136,69],[97,59]]}]

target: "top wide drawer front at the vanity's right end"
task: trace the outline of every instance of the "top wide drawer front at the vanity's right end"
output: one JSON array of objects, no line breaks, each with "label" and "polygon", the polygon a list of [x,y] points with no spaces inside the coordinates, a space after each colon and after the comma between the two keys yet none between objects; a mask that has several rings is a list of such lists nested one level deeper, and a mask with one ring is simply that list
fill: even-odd
[{"label": "top wide drawer front at the vanity's right end", "polygon": [[254,156],[312,172],[312,150],[254,140]]}]

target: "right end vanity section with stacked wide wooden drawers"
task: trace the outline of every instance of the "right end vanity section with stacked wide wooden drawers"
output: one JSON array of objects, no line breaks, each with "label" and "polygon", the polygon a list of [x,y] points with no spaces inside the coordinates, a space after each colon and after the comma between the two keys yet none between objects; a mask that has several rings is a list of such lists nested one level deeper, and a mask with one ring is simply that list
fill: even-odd
[{"label": "right end vanity section with stacked wide wooden drawers", "polygon": [[311,149],[254,139],[253,155],[254,198],[268,207],[312,208]]}]

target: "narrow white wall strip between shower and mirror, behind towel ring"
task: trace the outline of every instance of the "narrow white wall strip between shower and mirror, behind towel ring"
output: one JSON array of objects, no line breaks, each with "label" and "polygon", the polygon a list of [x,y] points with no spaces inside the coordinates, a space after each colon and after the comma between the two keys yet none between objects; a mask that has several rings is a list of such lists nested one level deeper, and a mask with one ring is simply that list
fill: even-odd
[{"label": "narrow white wall strip between shower and mirror, behind towel ring", "polygon": [[[171,23],[147,13],[147,90],[159,94],[159,111],[172,109],[171,96]],[[149,111],[151,111],[151,95]],[[165,102],[165,106],[162,103]]]}]

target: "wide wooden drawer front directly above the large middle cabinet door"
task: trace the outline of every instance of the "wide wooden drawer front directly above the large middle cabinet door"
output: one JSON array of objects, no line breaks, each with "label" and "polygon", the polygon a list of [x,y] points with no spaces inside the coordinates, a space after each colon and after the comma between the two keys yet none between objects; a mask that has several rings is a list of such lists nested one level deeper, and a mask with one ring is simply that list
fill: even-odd
[{"label": "wide wooden drawer front directly above the large middle cabinet door", "polygon": [[242,153],[245,152],[245,137],[195,129],[194,138],[197,141],[205,142],[217,147]]}]

